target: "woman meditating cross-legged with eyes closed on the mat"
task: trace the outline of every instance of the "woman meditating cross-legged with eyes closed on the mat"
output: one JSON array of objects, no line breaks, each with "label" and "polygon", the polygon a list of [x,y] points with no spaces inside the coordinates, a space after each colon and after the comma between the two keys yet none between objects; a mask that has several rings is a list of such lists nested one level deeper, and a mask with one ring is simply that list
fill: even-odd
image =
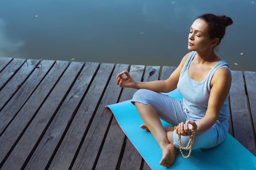
[{"label": "woman meditating cross-legged with eyes closed on the mat", "polygon": [[[132,103],[144,124],[162,150],[159,164],[171,166],[179,148],[177,135],[182,135],[183,145],[189,142],[191,130],[195,132],[193,149],[212,148],[220,144],[229,129],[227,96],[231,86],[231,73],[227,63],[214,52],[232,24],[225,15],[204,14],[192,24],[188,49],[177,69],[164,81],[135,82],[127,71],[117,75],[117,85],[132,87]],[[123,77],[122,75],[126,76]],[[178,89],[182,100],[159,92]],[[159,118],[176,125],[163,127]],[[185,122],[185,123],[184,123]]]}]

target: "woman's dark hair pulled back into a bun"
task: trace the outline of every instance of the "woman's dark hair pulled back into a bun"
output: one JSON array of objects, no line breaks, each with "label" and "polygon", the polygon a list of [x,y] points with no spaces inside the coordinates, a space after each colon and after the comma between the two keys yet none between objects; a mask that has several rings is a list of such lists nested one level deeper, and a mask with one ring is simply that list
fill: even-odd
[{"label": "woman's dark hair pulled back into a bun", "polygon": [[[210,39],[219,38],[220,41],[225,35],[226,27],[233,24],[230,17],[225,15],[203,14],[197,19],[202,19],[208,24]],[[220,41],[217,45],[220,44]]]}]

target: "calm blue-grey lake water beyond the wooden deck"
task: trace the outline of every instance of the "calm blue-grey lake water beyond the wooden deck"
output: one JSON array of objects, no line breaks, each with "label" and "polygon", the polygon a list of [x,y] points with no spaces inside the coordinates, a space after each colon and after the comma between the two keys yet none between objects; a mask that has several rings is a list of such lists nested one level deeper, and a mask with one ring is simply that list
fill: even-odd
[{"label": "calm blue-grey lake water beyond the wooden deck", "polygon": [[217,53],[256,71],[252,0],[1,0],[0,57],[177,66],[203,13],[232,18]]}]

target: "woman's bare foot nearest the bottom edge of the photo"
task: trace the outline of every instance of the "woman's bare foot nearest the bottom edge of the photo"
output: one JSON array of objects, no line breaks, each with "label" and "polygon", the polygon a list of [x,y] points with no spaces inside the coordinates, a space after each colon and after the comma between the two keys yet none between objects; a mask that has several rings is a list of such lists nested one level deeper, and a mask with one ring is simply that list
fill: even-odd
[{"label": "woman's bare foot nearest the bottom edge of the photo", "polygon": [[178,149],[171,143],[164,145],[161,149],[163,157],[160,160],[159,164],[164,167],[171,166],[175,160]]}]

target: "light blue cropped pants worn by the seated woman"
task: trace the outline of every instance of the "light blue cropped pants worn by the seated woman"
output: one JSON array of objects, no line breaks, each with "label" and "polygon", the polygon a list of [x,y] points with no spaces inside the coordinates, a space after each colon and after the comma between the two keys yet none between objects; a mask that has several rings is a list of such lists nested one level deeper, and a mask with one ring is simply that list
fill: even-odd
[{"label": "light blue cropped pants worn by the seated woman", "polygon": [[[159,118],[162,120],[178,125],[181,122],[186,122],[186,120],[193,120],[189,116],[192,114],[188,112],[182,105],[182,100],[173,98],[161,93],[153,92],[147,89],[139,89],[135,92],[132,98],[132,103],[140,102],[146,105],[153,106],[158,113]],[[198,122],[200,119],[194,120]],[[189,124],[191,125],[191,124]],[[217,122],[204,133],[195,135],[192,149],[206,149],[217,146],[224,141],[229,129],[229,124],[227,120],[217,120]],[[182,136],[181,142],[183,146],[186,146],[189,142],[190,136]],[[180,148],[177,141],[176,131],[173,132],[173,141],[176,148]]]}]

